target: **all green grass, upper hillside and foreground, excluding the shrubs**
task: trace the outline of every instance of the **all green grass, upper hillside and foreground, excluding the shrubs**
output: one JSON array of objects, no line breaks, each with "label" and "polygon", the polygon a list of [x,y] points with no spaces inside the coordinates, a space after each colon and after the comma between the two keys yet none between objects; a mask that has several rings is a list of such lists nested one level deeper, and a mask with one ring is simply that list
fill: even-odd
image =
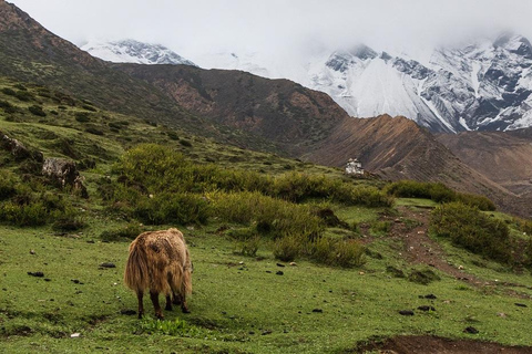
[{"label": "all green grass, upper hillside and foreground, excluding the shrubs", "polygon": [[[1,87],[14,87],[14,83],[0,79]],[[145,298],[144,320],[122,314],[123,310],[136,311],[135,295],[122,282],[131,238],[126,231],[140,232],[155,227],[140,226],[139,220],[127,215],[110,211],[112,208],[100,198],[98,190],[104,185],[105,176],[116,179],[115,162],[131,147],[156,143],[198,164],[214,163],[222,168],[253,170],[265,176],[299,171],[378,188],[385,183],[352,180],[336,168],[245,150],[114,112],[88,111],[83,100],[66,100],[73,105],[58,103],[48,97],[48,93],[41,95],[42,87],[27,87],[33,101],[19,101],[0,91],[0,100],[17,108],[14,113],[0,108],[0,131],[42,150],[45,157],[91,159],[96,165],[82,171],[90,199],[63,194],[70,204],[83,210],[80,212],[85,228],[60,237],[50,225],[0,226],[0,352],[338,353],[370,339],[406,334],[531,344],[532,304],[530,300],[511,295],[511,292],[532,295],[526,288],[532,283],[528,270],[518,275],[505,266],[439,240],[451,263],[463,266],[481,279],[498,282],[472,287],[438,272],[441,280],[417,284],[387,272],[388,267],[393,267],[408,277],[427,267],[410,264],[402,256],[403,244],[388,238],[386,232],[367,244],[362,267],[341,269],[298,258],[296,267],[285,262],[286,267],[282,268],[274,258],[274,241],[266,238],[258,242],[255,257],[236,253],[235,250],[242,250],[243,246],[238,244],[242,240],[231,237],[235,232],[217,230],[249,229],[255,223],[233,225],[219,216],[213,216],[201,227],[178,226],[194,261],[192,313],[165,312],[166,321],[157,322]],[[29,113],[28,107],[34,104],[43,107],[45,117]],[[79,122],[80,113],[88,113],[89,122]],[[96,126],[103,135],[88,134],[88,124]],[[182,140],[190,144],[180,143]],[[4,152],[0,152],[0,168],[19,174],[19,166]],[[308,200],[314,201],[323,200]],[[328,205],[348,225],[324,230],[324,237],[335,241],[361,239],[359,228],[378,226],[383,214],[397,214],[386,208],[346,207],[331,201]],[[422,210],[436,204],[400,198],[396,206]],[[278,217],[275,223],[279,223]],[[156,228],[165,227],[170,226]],[[102,242],[103,239],[115,242]],[[100,269],[102,262],[113,262],[116,268]],[[44,277],[28,274],[37,271],[42,271]],[[283,275],[276,274],[278,271],[283,271]],[[438,299],[419,298],[429,293]],[[518,308],[515,302],[526,303],[529,308]],[[416,310],[427,304],[437,311]],[[401,316],[400,310],[413,310],[416,315]],[[469,325],[474,325],[480,333],[474,336],[463,333]],[[71,337],[74,333],[80,333],[80,337]]]}]

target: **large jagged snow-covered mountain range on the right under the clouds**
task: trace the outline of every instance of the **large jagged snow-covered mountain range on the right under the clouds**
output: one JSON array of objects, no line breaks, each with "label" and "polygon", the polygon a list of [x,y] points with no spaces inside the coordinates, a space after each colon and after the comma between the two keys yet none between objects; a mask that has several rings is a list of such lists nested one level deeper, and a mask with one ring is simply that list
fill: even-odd
[{"label": "large jagged snow-covered mountain range on the right under the clouds", "polygon": [[319,53],[297,65],[270,56],[218,53],[196,62],[294,80],[328,93],[356,117],[405,115],[431,131],[454,133],[532,126],[532,46],[520,35],[438,48],[428,60],[366,45]]}]

